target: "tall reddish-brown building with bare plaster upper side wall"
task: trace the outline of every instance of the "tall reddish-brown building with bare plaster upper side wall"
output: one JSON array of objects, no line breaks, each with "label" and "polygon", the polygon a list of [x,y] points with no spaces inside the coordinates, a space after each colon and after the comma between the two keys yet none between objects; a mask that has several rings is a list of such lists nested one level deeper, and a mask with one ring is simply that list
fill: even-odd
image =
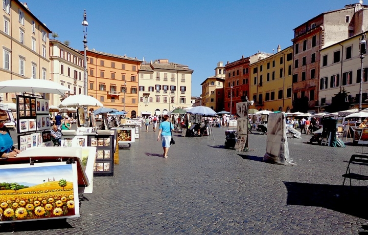
[{"label": "tall reddish-brown building with bare plaster upper side wall", "polygon": [[293,30],[292,99],[295,104],[307,103],[294,107],[298,109],[295,111],[315,110],[319,96],[319,50],[360,33],[362,25],[366,25],[366,8],[360,3],[347,5],[343,9],[321,13]]}]

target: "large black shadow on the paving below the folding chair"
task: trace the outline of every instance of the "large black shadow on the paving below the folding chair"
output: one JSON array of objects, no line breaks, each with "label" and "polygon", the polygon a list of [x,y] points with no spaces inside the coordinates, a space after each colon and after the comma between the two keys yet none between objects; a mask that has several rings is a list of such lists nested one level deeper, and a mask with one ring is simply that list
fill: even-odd
[{"label": "large black shadow on the paving below the folding chair", "polygon": [[[342,179],[341,179],[342,182]],[[287,205],[324,207],[351,216],[368,219],[366,186],[342,186],[285,182],[288,190]],[[368,226],[365,226],[367,228]]]}]

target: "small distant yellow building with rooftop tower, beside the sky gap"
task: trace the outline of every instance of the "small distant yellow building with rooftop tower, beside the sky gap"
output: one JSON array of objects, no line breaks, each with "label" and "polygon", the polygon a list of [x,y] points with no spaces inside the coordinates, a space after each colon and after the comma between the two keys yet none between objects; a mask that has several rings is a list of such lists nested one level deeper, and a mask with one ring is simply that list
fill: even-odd
[{"label": "small distant yellow building with rooftop tower, beside the sky gap", "polygon": [[213,109],[216,113],[224,110],[224,84],[225,78],[212,76],[202,83],[202,105]]}]

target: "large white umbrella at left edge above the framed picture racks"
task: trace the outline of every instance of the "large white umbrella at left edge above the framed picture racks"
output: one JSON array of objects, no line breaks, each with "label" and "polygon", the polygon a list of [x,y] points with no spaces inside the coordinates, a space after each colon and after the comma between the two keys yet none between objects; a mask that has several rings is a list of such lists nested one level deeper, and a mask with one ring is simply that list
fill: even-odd
[{"label": "large white umbrella at left edge above the framed picture racks", "polygon": [[51,93],[64,95],[64,92],[71,91],[70,89],[61,86],[61,84],[43,79],[19,79],[0,81],[0,93],[5,92],[31,92],[31,93]]}]

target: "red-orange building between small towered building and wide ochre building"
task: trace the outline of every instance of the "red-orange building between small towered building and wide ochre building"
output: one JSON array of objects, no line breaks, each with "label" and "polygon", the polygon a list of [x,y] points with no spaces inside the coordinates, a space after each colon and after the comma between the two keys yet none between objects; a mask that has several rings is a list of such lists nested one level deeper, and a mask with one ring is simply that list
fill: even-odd
[{"label": "red-orange building between small towered building and wide ochre building", "polygon": [[227,61],[225,66],[227,76],[224,84],[225,111],[236,115],[236,103],[246,101],[245,97],[249,94],[249,65],[270,55],[272,54],[258,52],[248,57],[242,56],[234,62]]}]

